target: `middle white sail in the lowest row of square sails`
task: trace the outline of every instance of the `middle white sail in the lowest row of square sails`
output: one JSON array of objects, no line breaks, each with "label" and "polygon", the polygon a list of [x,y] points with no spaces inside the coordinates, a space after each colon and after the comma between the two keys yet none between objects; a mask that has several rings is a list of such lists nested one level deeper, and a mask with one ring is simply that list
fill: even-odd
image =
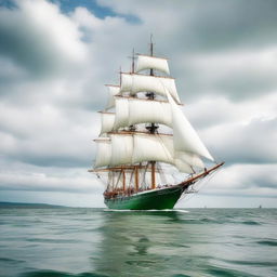
[{"label": "middle white sail in the lowest row of square sails", "polygon": [[131,164],[133,157],[132,134],[113,134],[110,166]]}]

